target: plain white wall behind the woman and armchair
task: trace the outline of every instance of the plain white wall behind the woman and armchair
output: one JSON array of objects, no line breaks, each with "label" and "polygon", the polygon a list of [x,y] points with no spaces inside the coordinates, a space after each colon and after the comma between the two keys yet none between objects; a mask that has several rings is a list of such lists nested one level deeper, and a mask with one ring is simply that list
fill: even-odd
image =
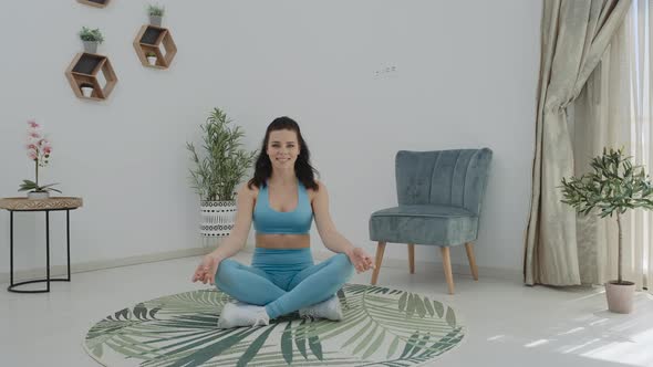
[{"label": "plain white wall behind the woman and armchair", "polygon": [[[370,213],[396,203],[398,149],[490,147],[477,261],[521,268],[540,1],[168,0],[164,25],[178,53],[167,71],[143,67],[132,46],[146,3],[14,1],[0,12],[0,195],[21,195],[33,176],[23,139],[37,117],[54,146],[43,181],[84,198],[71,213],[73,263],[199,245],[185,143],[199,141],[199,124],[220,106],[252,149],[273,117],[296,118],[338,228],[370,252]],[[105,34],[100,53],[120,80],[107,102],[76,98],[64,77],[82,25]],[[62,264],[63,216],[53,217],[53,264]],[[2,211],[0,272],[8,218]],[[17,269],[42,264],[42,221],[17,214]],[[317,232],[313,241],[322,247]],[[386,250],[405,254],[405,245]],[[433,248],[417,255],[439,261]],[[454,260],[466,263],[463,249]]]}]

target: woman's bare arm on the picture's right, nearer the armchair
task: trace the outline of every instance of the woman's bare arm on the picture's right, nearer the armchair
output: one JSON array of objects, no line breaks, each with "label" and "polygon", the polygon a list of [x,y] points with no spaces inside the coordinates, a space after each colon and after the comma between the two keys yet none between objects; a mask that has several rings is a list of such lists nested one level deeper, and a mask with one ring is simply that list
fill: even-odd
[{"label": "woman's bare arm on the picture's right, nearer the armchair", "polygon": [[372,258],[363,249],[355,248],[338,232],[329,213],[329,193],[326,192],[326,187],[322,182],[318,182],[318,185],[319,189],[315,191],[312,206],[318,232],[324,245],[333,252],[346,254],[357,272],[364,272],[370,268],[374,268]]}]

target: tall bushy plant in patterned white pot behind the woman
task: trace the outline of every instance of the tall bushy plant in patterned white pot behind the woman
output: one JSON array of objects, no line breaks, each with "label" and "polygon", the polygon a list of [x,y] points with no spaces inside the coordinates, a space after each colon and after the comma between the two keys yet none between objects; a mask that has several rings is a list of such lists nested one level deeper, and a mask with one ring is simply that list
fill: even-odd
[{"label": "tall bushy plant in patterned white pot behind the woman", "polygon": [[200,233],[206,237],[229,235],[236,219],[236,186],[256,155],[256,150],[241,148],[245,133],[239,126],[230,127],[230,123],[221,109],[214,108],[200,125],[204,133],[201,157],[191,143],[186,143],[195,164],[190,179],[200,200]]}]

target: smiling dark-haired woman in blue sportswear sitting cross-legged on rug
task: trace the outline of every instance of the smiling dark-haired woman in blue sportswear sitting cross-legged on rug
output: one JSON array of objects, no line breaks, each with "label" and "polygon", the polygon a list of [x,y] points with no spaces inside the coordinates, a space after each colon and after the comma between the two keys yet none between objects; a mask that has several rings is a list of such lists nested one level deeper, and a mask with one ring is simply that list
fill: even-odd
[{"label": "smiling dark-haired woman in blue sportswear sitting cross-legged on rug", "polygon": [[[230,235],[197,266],[193,281],[216,284],[238,300],[222,308],[218,327],[268,325],[271,318],[300,315],[341,319],[335,292],[353,270],[371,269],[372,259],[335,229],[324,184],[314,179],[310,151],[299,125],[276,118],[266,132],[255,175],[238,191]],[[313,264],[312,219],[322,242],[338,254]],[[245,247],[253,222],[256,249],[251,266],[231,259]]]}]

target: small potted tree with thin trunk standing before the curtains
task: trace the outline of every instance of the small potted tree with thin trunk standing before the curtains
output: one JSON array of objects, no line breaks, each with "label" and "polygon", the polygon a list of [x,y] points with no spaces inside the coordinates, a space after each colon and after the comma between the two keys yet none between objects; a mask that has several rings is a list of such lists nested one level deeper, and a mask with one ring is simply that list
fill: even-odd
[{"label": "small potted tree with thin trunk standing before the curtains", "polygon": [[633,166],[630,158],[623,156],[623,149],[608,151],[603,148],[601,156],[592,158],[593,172],[570,180],[562,178],[562,202],[584,216],[592,211],[601,218],[616,216],[616,280],[605,284],[608,308],[615,313],[632,311],[635,290],[635,283],[622,277],[622,216],[629,209],[653,209],[653,186],[649,176],[643,167]]}]

